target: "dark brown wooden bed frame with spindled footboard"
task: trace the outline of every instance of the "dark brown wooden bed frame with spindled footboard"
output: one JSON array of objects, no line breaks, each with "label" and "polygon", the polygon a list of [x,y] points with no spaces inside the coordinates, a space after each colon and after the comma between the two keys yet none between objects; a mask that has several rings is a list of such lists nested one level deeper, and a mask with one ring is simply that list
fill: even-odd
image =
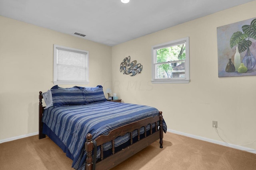
[{"label": "dark brown wooden bed frame with spindled footboard", "polygon": [[[42,92],[39,92],[39,139],[45,138],[46,135],[42,134],[42,115],[44,112],[44,107],[42,106]],[[159,128],[157,126],[157,122],[159,123]],[[124,125],[121,127],[118,127],[112,131],[108,135],[100,135],[98,138],[95,139],[97,146],[100,146],[100,157],[101,161],[97,162],[95,165],[93,164],[92,159],[92,150],[94,149],[94,144],[92,141],[92,135],[88,133],[86,135],[86,143],[85,143],[85,150],[87,152],[86,154],[86,170],[93,170],[93,168],[97,170],[104,170],[104,169],[110,169],[114,166],[120,164],[130,156],[136,154],[140,150],[148,147],[150,144],[154,143],[158,139],[160,139],[160,148],[163,148],[163,117],[162,117],[162,111],[159,112],[159,116],[156,117],[148,117],[145,119],[142,119],[140,121],[136,121],[133,123],[130,123],[128,125]],[[155,123],[155,132],[153,133],[152,124]],[[147,136],[146,133],[146,126],[150,124],[150,135]],[[144,138],[140,139],[140,128],[144,127]],[[132,142],[132,132],[134,130],[138,131],[138,141],[133,143]],[[130,145],[118,152],[115,152],[114,148],[114,139],[118,136],[125,135],[126,133],[130,133],[131,140]],[[106,142],[112,142],[112,155],[104,158],[103,156],[103,144]],[[95,166],[95,167],[94,167]]]}]

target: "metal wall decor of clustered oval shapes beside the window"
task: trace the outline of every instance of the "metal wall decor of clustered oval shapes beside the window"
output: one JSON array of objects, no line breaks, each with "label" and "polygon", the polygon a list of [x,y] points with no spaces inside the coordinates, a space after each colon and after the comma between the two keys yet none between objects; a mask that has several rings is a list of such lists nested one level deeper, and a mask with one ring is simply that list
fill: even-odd
[{"label": "metal wall decor of clustered oval shapes beside the window", "polygon": [[123,72],[123,74],[130,74],[130,76],[134,76],[142,71],[143,66],[141,64],[136,64],[136,60],[130,63],[130,59],[130,56],[124,58],[124,60],[120,64],[120,72]]}]

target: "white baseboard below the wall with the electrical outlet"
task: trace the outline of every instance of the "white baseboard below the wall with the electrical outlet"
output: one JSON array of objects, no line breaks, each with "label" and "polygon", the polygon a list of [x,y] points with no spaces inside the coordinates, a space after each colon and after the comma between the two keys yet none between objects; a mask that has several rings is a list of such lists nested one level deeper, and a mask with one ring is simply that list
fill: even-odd
[{"label": "white baseboard below the wall with the electrical outlet", "polygon": [[[178,135],[183,135],[183,136],[186,136],[186,137],[191,137],[191,138],[194,138],[194,139],[199,139],[199,140],[202,140],[202,141],[207,141],[207,142],[210,142],[210,143],[215,143],[215,144],[223,145],[223,146],[227,147],[227,145],[224,142],[222,142],[222,141],[216,141],[216,140],[213,140],[213,139],[208,139],[208,138],[205,138],[205,137],[200,137],[200,136],[191,135],[191,134],[188,134],[188,133],[174,131],[174,130],[171,130],[171,129],[167,129],[167,131],[171,132],[171,133],[176,133]],[[241,147],[239,145],[234,145],[234,144],[230,144],[230,143],[228,143],[228,147],[239,149],[239,150],[244,150],[244,151],[252,152],[252,153],[256,154],[256,150],[255,149]]]}]

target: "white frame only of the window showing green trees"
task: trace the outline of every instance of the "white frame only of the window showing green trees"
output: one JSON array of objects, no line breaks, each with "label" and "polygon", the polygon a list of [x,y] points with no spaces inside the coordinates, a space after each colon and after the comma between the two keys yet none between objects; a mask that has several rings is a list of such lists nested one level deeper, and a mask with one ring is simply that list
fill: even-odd
[{"label": "white frame only of the window showing green trees", "polygon": [[[156,78],[156,50],[180,45],[181,43],[186,44],[185,48],[185,78]],[[190,63],[189,63],[189,37],[169,41],[152,46],[152,83],[189,83],[190,81]]]}]

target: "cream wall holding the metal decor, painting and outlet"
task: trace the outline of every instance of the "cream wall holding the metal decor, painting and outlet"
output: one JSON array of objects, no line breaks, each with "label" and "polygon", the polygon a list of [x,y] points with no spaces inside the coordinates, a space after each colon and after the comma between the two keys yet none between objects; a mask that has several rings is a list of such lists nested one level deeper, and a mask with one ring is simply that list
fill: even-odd
[{"label": "cream wall holding the metal decor, painting and outlet", "polygon": [[[256,140],[256,76],[218,78],[216,28],[256,16],[256,1],[170,27],[112,47],[112,91],[124,102],[163,111],[168,129],[228,143]],[[190,83],[152,84],[151,47],[190,38]],[[120,72],[125,57],[143,65],[131,77]],[[256,54],[254,54],[256,55]],[[256,143],[244,145],[256,149]]]}]

